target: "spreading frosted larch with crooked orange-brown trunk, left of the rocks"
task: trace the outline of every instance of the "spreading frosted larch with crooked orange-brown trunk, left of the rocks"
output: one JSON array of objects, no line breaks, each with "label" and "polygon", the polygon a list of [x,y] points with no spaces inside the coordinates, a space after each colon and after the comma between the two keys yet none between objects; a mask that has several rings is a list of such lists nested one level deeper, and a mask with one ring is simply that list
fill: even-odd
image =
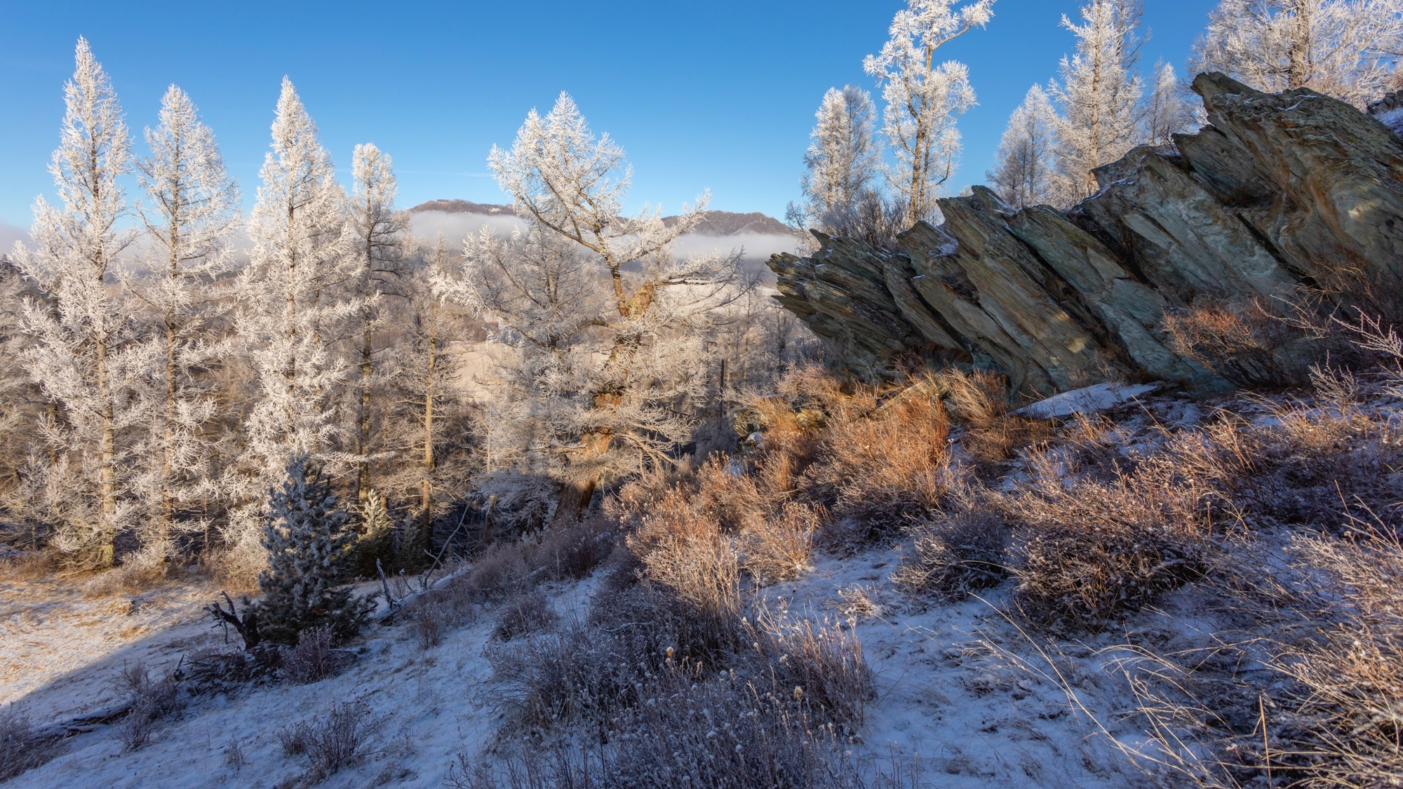
[{"label": "spreading frosted larch with crooked orange-brown trunk, left of the rocks", "polygon": [[[512,319],[535,337],[523,341],[523,351],[539,352],[537,321],[586,320],[593,329],[570,347],[567,365],[550,362],[547,368],[550,375],[565,376],[551,385],[571,393],[570,407],[551,414],[572,438],[561,451],[567,487],[558,517],[585,507],[610,472],[669,462],[661,446],[675,445],[678,425],[686,421],[673,406],[702,376],[689,365],[693,351],[682,347],[690,337],[683,327],[734,299],[741,285],[739,254],[680,257],[672,251],[672,243],[702,218],[707,195],[673,222],[664,222],[658,209],[622,216],[631,178],[623,156],[607,135],[595,138],[567,94],[544,118],[533,110],[511,150],[494,147],[488,157],[497,183],[532,229],[487,248],[467,248],[470,267],[497,267],[504,278],[532,272],[529,282],[504,285],[504,298],[515,292],[511,303],[522,305],[526,314],[492,316]],[[557,254],[558,241],[578,247],[589,264],[579,282],[592,292],[577,314],[528,306],[540,298],[549,277],[537,258]],[[499,265],[491,261],[497,254]]]}]

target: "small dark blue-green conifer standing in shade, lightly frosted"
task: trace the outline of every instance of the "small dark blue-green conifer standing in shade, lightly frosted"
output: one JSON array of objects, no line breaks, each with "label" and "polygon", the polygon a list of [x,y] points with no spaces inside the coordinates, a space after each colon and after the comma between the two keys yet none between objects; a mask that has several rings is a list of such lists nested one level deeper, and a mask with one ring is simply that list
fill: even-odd
[{"label": "small dark blue-green conifer standing in shade, lightly frosted", "polygon": [[261,542],[268,569],[258,574],[258,635],[269,642],[297,643],[313,628],[349,637],[369,612],[365,599],[337,580],[355,543],[351,517],[337,507],[321,468],[306,453],[295,453],[285,479],[268,490],[268,517]]}]

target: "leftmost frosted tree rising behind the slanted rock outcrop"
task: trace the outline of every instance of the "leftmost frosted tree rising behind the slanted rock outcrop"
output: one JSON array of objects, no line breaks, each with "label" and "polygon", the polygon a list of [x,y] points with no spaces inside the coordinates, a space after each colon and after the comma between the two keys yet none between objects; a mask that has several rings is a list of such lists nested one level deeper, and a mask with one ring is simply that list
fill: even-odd
[{"label": "leftmost frosted tree rising behind the slanted rock outcrop", "polygon": [[800,178],[804,213],[812,226],[843,233],[881,166],[875,108],[871,95],[857,86],[828,88],[817,118]]}]

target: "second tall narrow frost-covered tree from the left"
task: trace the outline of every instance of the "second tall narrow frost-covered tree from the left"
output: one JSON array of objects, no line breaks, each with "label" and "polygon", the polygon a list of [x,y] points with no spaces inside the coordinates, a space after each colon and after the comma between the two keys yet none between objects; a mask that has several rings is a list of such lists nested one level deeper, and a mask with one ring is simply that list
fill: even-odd
[{"label": "second tall narrow frost-covered tree from the left", "polygon": [[177,511],[217,494],[210,434],[219,403],[205,371],[229,352],[212,321],[227,309],[222,282],[237,270],[231,236],[241,216],[239,187],[185,91],[166,91],[146,143],[152,154],[136,168],[147,274],[129,288],[154,313],[143,344],[152,420],[139,489],[154,515],[145,536],[166,550]]}]

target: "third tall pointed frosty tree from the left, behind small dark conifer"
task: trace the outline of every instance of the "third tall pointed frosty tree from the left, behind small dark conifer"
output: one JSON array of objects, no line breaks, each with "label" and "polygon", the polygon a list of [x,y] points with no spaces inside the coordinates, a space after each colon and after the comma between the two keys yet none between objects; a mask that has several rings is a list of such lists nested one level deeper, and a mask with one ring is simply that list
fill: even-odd
[{"label": "third tall pointed frosty tree from the left, behind small dark conifer", "polygon": [[[262,185],[248,223],[254,240],[237,289],[240,333],[257,376],[244,432],[246,507],[230,539],[247,553],[251,524],[261,519],[257,491],[282,477],[289,455],[333,455],[334,394],[347,365],[337,343],[349,336],[365,302],[348,296],[359,261],[341,244],[345,195],[317,128],[283,79],[264,159]],[[337,459],[341,459],[337,456]]]}]

